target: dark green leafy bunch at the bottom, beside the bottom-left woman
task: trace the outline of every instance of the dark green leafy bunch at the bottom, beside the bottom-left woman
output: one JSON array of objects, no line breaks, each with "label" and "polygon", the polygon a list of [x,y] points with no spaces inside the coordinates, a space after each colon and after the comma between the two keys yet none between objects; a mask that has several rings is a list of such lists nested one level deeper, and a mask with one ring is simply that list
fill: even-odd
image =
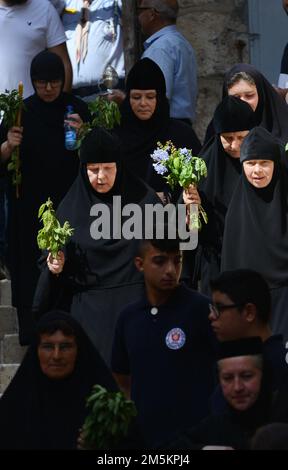
[{"label": "dark green leafy bunch at the bottom, beside the bottom-left woman", "polygon": [[122,392],[108,392],[101,385],[94,385],[87,406],[90,414],[83,425],[85,447],[117,447],[127,436],[131,420],[137,414],[134,402],[126,400]]}]

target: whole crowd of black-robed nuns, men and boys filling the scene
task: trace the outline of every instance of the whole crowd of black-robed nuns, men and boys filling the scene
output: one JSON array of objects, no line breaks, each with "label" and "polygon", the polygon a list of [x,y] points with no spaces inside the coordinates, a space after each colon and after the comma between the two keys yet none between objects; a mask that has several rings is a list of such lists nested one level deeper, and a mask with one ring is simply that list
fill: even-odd
[{"label": "whole crowd of black-robed nuns, men and boys filling the scene", "polygon": [[[86,400],[98,384],[135,403],[137,439],[128,435],[126,448],[287,449],[288,105],[252,65],[235,64],[202,145],[195,54],[177,30],[177,0],[137,3],[144,52],[125,84],[121,7],[0,0],[0,92],[24,83],[21,122],[0,126],[1,273],[29,345],[0,399],[0,448],[85,447]],[[21,21],[23,37],[2,41]],[[91,129],[87,102],[103,91],[107,65],[119,77],[106,98],[120,124]],[[90,126],[77,150],[65,148],[64,120],[78,136]],[[151,154],[168,141],[205,161],[197,188],[171,190],[156,171]],[[37,245],[48,197],[73,228],[56,255]],[[183,204],[208,215],[190,251],[171,238],[175,221],[161,219]]]}]

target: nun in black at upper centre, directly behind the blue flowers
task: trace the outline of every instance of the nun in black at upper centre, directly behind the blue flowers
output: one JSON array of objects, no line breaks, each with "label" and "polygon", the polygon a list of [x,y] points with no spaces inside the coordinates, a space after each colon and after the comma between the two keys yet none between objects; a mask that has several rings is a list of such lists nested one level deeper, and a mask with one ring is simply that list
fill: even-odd
[{"label": "nun in black at upper centre, directly behind the blue flowers", "polygon": [[[138,91],[138,96],[133,99],[140,101],[141,92],[148,90],[150,94],[155,94],[155,110],[150,117],[147,114],[136,115],[131,105],[131,92],[135,94]],[[127,77],[126,93],[120,107],[121,124],[115,129],[122,141],[125,164],[157,193],[164,193],[167,199],[170,189],[164,178],[154,170],[150,156],[156,150],[157,142],[165,144],[171,140],[175,147],[192,149],[194,155],[198,155],[201,144],[191,126],[170,118],[165,78],[153,60],[144,58],[134,65]]]}]

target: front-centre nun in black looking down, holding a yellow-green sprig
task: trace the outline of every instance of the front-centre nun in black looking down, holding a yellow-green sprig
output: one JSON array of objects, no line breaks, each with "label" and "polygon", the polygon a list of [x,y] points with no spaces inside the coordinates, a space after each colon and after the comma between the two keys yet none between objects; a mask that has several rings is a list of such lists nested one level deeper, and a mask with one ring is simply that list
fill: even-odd
[{"label": "front-centre nun in black looking down, holding a yellow-green sprig", "polygon": [[[71,311],[108,362],[118,314],[144,289],[142,275],[134,265],[138,240],[121,234],[129,216],[120,211],[134,204],[142,214],[146,204],[161,202],[152,189],[125,169],[118,137],[108,131],[95,128],[89,133],[80,160],[78,177],[57,211],[60,222],[68,220],[75,229],[65,249],[64,269],[61,272],[64,254],[51,262],[48,258],[50,271],[44,269],[40,277],[34,308],[38,315],[51,306]],[[97,211],[104,214],[102,225],[99,217],[93,217],[99,216]],[[141,223],[139,219],[134,225],[140,230],[139,237]]]}]

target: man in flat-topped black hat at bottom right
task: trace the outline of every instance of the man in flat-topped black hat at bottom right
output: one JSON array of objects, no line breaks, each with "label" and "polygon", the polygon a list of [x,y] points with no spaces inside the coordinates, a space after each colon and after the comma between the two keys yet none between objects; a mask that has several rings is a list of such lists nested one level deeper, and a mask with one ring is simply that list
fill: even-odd
[{"label": "man in flat-topped black hat at bottom right", "polygon": [[269,422],[272,394],[263,363],[261,338],[219,343],[217,364],[227,409],[221,415],[208,416],[162,448],[248,449],[256,429]]}]

